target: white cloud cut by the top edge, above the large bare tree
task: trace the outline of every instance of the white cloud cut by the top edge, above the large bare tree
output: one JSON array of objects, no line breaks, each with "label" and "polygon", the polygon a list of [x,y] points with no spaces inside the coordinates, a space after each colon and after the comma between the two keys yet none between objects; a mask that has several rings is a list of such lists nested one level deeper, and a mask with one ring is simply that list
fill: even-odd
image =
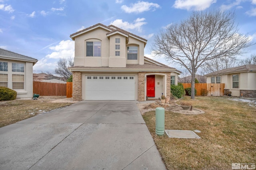
[{"label": "white cloud cut by the top edge, above the large bare tree", "polygon": [[173,7],[186,10],[205,10],[216,0],[176,0]]}]

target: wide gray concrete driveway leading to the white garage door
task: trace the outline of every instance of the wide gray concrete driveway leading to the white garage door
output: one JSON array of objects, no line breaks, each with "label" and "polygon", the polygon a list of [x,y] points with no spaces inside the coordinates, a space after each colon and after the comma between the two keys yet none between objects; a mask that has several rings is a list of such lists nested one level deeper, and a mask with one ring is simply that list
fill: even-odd
[{"label": "wide gray concrete driveway leading to the white garage door", "polygon": [[164,170],[136,101],[82,101],[0,128],[1,170]]}]

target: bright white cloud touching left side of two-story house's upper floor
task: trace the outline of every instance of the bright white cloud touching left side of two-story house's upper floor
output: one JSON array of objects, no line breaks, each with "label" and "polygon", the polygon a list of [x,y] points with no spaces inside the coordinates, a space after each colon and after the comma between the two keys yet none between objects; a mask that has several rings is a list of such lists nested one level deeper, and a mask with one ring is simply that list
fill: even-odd
[{"label": "bright white cloud touching left side of two-story house's upper floor", "polygon": [[56,46],[49,47],[53,52],[46,55],[46,58],[59,59],[59,58],[69,58],[74,57],[74,41],[66,40],[60,41]]}]

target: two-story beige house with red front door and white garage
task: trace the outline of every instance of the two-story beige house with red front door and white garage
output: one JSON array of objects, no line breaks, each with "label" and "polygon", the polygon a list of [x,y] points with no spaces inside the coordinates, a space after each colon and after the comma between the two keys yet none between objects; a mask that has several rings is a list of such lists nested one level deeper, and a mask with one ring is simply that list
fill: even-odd
[{"label": "two-story beige house with red front door and white garage", "polygon": [[98,23],[70,35],[75,41],[73,100],[170,98],[175,68],[144,57],[147,40],[114,25]]}]

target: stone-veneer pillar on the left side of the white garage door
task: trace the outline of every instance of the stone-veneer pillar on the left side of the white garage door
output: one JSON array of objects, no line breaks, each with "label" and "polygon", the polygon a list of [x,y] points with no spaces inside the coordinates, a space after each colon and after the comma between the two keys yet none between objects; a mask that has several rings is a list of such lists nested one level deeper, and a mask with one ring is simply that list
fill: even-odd
[{"label": "stone-veneer pillar on the left side of the white garage door", "polygon": [[82,73],[74,71],[73,73],[73,101],[82,100]]}]

